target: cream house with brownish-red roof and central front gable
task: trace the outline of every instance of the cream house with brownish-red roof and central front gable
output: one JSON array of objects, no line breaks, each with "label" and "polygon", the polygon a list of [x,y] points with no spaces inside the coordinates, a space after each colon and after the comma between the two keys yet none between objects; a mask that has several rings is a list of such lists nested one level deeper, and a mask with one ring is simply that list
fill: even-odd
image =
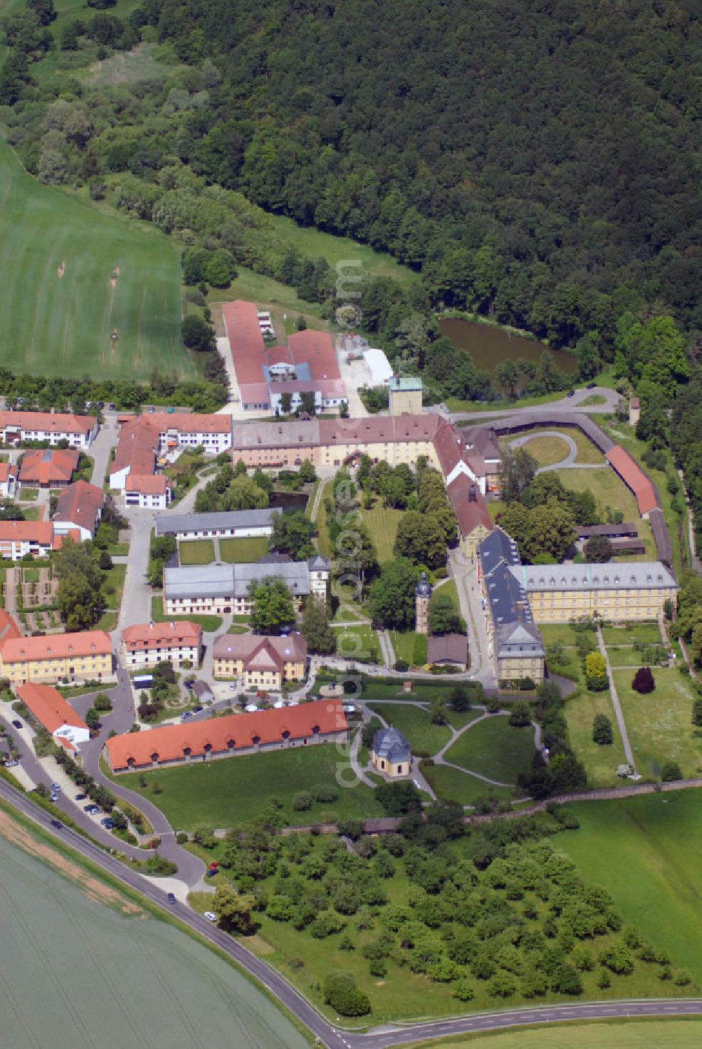
[{"label": "cream house with brownish-red roof and central front gable", "polygon": [[215,678],[241,677],[244,688],[278,691],[283,681],[301,681],[307,645],[301,634],[263,637],[220,634],[212,647]]}]

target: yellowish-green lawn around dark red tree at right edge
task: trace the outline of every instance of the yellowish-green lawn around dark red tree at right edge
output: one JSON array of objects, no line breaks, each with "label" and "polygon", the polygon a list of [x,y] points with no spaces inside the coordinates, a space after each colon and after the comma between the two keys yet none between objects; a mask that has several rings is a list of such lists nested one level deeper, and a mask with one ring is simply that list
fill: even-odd
[{"label": "yellowish-green lawn around dark red tree at right edge", "polygon": [[626,731],[642,775],[660,776],[665,762],[677,762],[684,777],[702,771],[702,734],[692,724],[694,689],[677,668],[654,668],[656,688],[640,695],[633,670],[614,670]]}]

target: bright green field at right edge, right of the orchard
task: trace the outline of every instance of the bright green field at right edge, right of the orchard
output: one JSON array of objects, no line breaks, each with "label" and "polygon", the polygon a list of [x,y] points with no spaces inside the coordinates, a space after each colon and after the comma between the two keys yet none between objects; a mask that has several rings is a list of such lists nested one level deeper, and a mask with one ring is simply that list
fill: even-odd
[{"label": "bright green field at right edge, right of the orchard", "polygon": [[[604,885],[624,920],[702,985],[702,790],[583,801],[557,848]],[[651,1043],[652,1045],[656,1043]]]}]

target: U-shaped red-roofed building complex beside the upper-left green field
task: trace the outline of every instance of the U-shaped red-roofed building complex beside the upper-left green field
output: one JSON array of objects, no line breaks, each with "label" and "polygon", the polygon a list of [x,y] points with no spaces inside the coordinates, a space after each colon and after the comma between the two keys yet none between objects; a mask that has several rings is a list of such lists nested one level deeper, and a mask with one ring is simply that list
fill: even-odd
[{"label": "U-shaped red-roofed building complex beside the upper-left green field", "polygon": [[225,326],[236,372],[238,395],[246,411],[282,411],[282,397],[289,394],[288,410],[302,405],[302,394],[314,397],[315,409],[339,408],[346,403],[346,386],[339,371],[332,336],[306,328],[288,337],[286,346],[267,346],[265,325],[253,302],[240,299],[224,308]]}]

